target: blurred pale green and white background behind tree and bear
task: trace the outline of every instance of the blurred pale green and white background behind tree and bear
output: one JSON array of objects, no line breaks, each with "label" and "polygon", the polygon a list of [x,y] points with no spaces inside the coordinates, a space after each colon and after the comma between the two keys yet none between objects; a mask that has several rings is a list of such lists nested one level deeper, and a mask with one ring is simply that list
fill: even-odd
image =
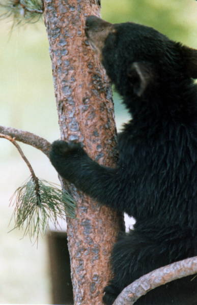
[{"label": "blurred pale green and white background behind tree and bear", "polygon": [[[197,2],[194,0],[102,0],[102,18],[155,27],[171,39],[197,48]],[[53,93],[48,41],[43,22],[14,28],[0,21],[0,125],[60,138]],[[118,129],[128,119],[114,94]],[[38,177],[57,182],[57,174],[40,151],[20,144]],[[37,246],[22,231],[12,231],[9,198],[30,176],[16,148],[0,139],[0,303],[50,304],[46,237]]]}]

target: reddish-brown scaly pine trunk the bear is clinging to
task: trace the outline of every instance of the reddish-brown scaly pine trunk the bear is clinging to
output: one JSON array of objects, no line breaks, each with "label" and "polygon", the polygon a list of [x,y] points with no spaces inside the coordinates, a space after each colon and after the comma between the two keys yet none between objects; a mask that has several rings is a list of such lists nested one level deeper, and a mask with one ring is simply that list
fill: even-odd
[{"label": "reddish-brown scaly pine trunk the bear is clinging to", "polygon": [[[83,142],[98,163],[116,162],[116,126],[111,88],[85,37],[85,19],[100,15],[97,0],[45,0],[61,137]],[[65,186],[66,187],[66,186]],[[68,220],[71,273],[76,304],[101,304],[110,277],[108,259],[123,217],[76,192],[75,220]]]}]

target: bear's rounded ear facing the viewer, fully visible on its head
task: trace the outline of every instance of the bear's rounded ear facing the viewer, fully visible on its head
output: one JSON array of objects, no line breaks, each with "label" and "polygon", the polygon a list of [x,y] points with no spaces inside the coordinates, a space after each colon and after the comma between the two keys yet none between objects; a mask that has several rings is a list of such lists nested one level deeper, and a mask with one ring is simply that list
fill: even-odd
[{"label": "bear's rounded ear facing the viewer, fully visible on its head", "polygon": [[153,70],[149,63],[135,62],[127,70],[134,93],[141,97],[153,79]]}]

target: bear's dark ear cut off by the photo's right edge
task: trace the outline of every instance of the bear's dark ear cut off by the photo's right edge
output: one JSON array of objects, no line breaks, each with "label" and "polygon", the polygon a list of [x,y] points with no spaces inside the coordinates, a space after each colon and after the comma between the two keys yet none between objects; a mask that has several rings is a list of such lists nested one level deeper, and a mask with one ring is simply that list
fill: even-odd
[{"label": "bear's dark ear cut off by the photo's right edge", "polygon": [[197,50],[182,46],[182,51],[190,77],[197,78]]}]

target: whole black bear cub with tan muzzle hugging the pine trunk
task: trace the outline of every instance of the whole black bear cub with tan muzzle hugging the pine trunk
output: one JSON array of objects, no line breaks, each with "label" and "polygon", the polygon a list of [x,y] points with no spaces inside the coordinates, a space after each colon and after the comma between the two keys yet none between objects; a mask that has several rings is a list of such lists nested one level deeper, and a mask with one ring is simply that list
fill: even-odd
[{"label": "whole black bear cub with tan muzzle hugging the pine trunk", "polygon": [[[197,51],[132,22],[89,16],[85,32],[132,119],[119,135],[116,168],[74,142],[55,141],[50,160],[79,190],[136,220],[111,254],[114,277],[103,296],[111,305],[139,277],[197,255]],[[196,305],[197,278],[136,301],[170,304]]]}]

